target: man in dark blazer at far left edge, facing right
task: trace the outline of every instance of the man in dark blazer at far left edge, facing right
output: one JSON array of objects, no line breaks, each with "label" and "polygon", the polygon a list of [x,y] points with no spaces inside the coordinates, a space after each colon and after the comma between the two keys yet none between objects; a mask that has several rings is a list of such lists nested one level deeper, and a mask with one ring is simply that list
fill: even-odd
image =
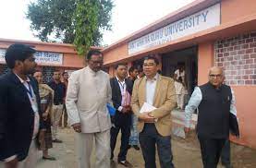
[{"label": "man in dark blazer at far left edge, facing right", "polygon": [[6,50],[11,71],[0,77],[0,160],[6,168],[34,168],[36,142],[43,143],[38,84],[29,76],[36,66],[35,52],[21,43]]}]

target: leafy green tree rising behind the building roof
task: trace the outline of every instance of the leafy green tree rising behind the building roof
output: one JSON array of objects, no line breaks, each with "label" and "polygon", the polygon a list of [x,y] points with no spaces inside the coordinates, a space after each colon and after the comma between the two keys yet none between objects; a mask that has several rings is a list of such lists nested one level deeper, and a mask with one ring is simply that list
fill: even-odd
[{"label": "leafy green tree rising behind the building roof", "polygon": [[37,0],[26,15],[41,41],[74,43],[85,54],[101,45],[103,30],[111,30],[112,8],[112,0]]}]

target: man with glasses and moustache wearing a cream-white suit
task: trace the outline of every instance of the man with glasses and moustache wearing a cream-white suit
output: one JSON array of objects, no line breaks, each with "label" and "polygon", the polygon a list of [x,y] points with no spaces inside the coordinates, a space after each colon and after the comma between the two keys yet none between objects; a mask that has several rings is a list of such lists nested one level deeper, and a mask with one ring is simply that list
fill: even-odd
[{"label": "man with glasses and moustache wearing a cream-white suit", "polygon": [[87,54],[88,65],[71,74],[66,106],[70,126],[77,132],[79,168],[91,167],[91,150],[95,139],[95,166],[110,167],[111,120],[106,104],[111,102],[109,76],[101,70],[103,55]]}]

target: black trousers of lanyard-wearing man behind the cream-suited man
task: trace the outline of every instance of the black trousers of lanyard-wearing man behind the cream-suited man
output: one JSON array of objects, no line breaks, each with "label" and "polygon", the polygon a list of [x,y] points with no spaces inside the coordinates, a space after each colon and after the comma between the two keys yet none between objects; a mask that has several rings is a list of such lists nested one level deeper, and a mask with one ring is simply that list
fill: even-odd
[{"label": "black trousers of lanyard-wearing man behind the cream-suited man", "polygon": [[[130,120],[130,117],[128,117]],[[121,147],[118,154],[118,161],[126,161],[128,153],[128,139],[130,135],[130,121],[118,122],[110,129],[110,147],[111,147],[111,159],[114,158],[114,150],[116,147],[116,138],[119,130],[121,129]]]}]

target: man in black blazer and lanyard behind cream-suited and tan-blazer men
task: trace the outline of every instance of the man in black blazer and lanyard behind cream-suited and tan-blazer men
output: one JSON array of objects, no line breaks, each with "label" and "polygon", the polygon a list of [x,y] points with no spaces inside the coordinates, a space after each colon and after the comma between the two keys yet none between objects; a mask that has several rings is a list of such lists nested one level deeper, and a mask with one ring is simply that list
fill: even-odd
[{"label": "man in black blazer and lanyard behind cream-suited and tan-blazer men", "polygon": [[132,82],[126,78],[128,69],[124,64],[116,65],[116,77],[110,79],[112,88],[112,101],[116,108],[116,114],[112,118],[113,126],[111,127],[110,146],[111,146],[111,160],[114,158],[114,150],[116,147],[116,138],[119,130],[121,129],[121,148],[118,154],[118,163],[131,167],[127,161],[128,153],[128,139],[130,135],[131,125],[131,108],[130,98],[132,91]]}]

